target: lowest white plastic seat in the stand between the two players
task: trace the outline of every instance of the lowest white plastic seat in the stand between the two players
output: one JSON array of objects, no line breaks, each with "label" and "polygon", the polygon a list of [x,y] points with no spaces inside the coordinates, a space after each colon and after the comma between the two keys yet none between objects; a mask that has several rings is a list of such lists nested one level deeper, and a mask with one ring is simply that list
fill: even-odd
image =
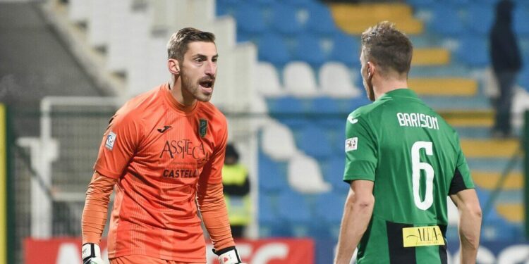
[{"label": "lowest white plastic seat in the stand between the two players", "polygon": [[296,153],[288,162],[288,184],[292,189],[305,194],[317,194],[331,189],[331,185],[324,182],[317,161],[303,153]]}]

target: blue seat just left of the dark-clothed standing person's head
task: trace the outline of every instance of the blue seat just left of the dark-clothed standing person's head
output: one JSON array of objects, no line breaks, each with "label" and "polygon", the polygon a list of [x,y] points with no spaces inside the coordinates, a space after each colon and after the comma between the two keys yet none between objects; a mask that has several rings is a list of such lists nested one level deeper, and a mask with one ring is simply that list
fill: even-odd
[{"label": "blue seat just left of the dark-clothed standing person's head", "polygon": [[487,35],[494,23],[494,8],[490,5],[473,4],[468,6],[465,25],[475,34]]}]

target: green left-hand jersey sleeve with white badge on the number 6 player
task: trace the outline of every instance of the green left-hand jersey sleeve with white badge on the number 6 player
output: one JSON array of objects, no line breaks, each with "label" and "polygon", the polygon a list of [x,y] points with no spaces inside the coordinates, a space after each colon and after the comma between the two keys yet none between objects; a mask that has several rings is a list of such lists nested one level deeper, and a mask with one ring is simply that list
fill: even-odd
[{"label": "green left-hand jersey sleeve with white badge on the number 6 player", "polygon": [[375,181],[377,168],[377,142],[374,132],[370,129],[363,116],[353,112],[346,123],[346,165],[343,181],[353,180]]}]

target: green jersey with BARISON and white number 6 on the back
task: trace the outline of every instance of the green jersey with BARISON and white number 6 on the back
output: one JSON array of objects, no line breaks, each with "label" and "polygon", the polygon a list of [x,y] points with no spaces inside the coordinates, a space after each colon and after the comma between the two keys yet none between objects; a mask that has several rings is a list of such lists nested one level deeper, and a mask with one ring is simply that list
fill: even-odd
[{"label": "green jersey with BARISON and white number 6 on the back", "polygon": [[358,263],[446,263],[446,196],[474,187],[456,131],[396,89],[348,116],[345,150],[343,180],[374,182]]}]

